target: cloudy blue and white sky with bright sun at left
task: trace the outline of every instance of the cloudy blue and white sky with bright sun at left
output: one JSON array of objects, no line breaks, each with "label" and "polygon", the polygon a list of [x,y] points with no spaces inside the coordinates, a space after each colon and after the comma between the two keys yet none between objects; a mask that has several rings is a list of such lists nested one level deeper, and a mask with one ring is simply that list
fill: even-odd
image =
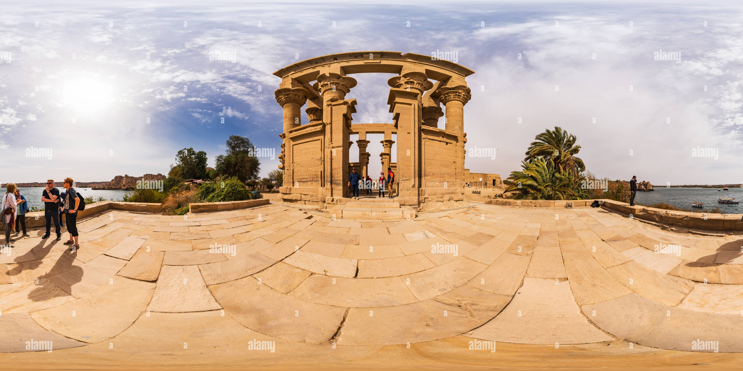
[{"label": "cloudy blue and white sky with bright sun at left", "polygon": [[[4,1],[0,183],[166,174],[188,147],[213,166],[230,134],[278,154],[272,73],[357,50],[452,51],[476,71],[467,148],[497,157],[468,157],[473,172],[507,177],[557,125],[600,177],[743,183],[743,5],[705,2]],[[354,75],[355,122],[392,122],[389,77]],[[279,164],[261,161],[264,176]]]}]

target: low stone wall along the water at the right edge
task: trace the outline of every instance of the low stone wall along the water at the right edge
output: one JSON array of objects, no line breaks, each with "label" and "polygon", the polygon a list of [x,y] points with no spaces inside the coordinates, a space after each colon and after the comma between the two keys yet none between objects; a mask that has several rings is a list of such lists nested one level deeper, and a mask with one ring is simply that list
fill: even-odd
[{"label": "low stone wall along the water at the right edge", "polygon": [[604,209],[632,215],[643,220],[707,231],[743,231],[743,214],[704,214],[698,212],[672,211],[645,206],[629,206],[629,203],[606,200]]}]

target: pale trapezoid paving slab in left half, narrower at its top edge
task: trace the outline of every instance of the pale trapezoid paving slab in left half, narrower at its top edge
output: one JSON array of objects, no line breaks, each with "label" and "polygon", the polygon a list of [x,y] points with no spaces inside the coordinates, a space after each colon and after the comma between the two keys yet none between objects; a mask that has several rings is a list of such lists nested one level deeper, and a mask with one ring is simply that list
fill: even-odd
[{"label": "pale trapezoid paving slab in left half, narrower at its top edge", "polygon": [[207,289],[197,266],[163,266],[147,310],[203,312],[221,309]]}]

